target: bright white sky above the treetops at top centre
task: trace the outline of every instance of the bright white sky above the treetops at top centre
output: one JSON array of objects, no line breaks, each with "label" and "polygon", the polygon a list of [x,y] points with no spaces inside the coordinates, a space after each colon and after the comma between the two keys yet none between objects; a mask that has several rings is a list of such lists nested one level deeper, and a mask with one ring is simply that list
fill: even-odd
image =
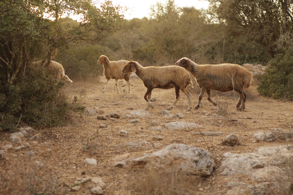
[{"label": "bright white sky above the treetops at top centre", "polygon": [[[167,0],[112,0],[113,5],[120,5],[122,7],[126,6],[129,8],[127,13],[125,13],[125,19],[129,20],[132,18],[143,18],[149,17],[149,8],[151,5],[156,4],[156,2],[161,2],[163,4],[167,3]],[[176,6],[178,7],[195,7],[197,9],[207,8],[208,2],[205,0],[174,0]]]}]

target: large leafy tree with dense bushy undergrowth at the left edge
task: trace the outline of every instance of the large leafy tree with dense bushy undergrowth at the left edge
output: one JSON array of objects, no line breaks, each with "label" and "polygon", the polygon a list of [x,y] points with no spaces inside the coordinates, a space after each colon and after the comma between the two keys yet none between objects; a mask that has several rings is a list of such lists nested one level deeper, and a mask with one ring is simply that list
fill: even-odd
[{"label": "large leafy tree with dense bushy undergrowth at the left edge", "polygon": [[[0,130],[13,131],[21,121],[47,127],[66,120],[69,108],[73,108],[59,94],[64,83],[52,80],[46,66],[57,48],[80,40],[99,41],[118,29],[122,8],[111,1],[100,6],[90,0],[0,1]],[[65,13],[80,13],[79,25],[62,25],[59,19]],[[76,51],[88,52],[88,56],[97,51],[81,49]],[[77,56],[74,52],[71,55]],[[70,57],[58,60],[65,62]],[[89,65],[94,60],[88,59],[73,59],[71,65],[91,71]],[[31,61],[39,60],[40,67],[28,67]]]}]

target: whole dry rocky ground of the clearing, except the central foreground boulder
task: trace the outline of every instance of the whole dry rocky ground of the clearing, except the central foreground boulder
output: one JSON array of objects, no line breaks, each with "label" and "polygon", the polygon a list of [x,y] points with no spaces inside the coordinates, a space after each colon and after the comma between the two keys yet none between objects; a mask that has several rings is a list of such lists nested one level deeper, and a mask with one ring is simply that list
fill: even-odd
[{"label": "whole dry rocky ground of the clearing, except the central foreground boulder", "polygon": [[[103,77],[66,83],[64,93],[69,100],[76,96],[89,113],[74,113],[71,123],[62,127],[26,128],[21,140],[2,133],[0,194],[291,193],[292,102],[259,96],[253,85],[247,92],[245,111],[236,112],[237,94],[212,91],[218,106],[212,106],[205,94],[199,109],[186,112],[183,94],[170,113],[162,113],[175,99],[175,91],[154,89],[154,109],[147,113],[140,111],[147,106],[142,81],[131,79],[130,94],[122,92],[124,84],[118,82],[117,94],[115,80],[101,93]],[[199,90],[189,90],[195,106]],[[170,129],[166,126],[170,122],[198,126]],[[230,134],[239,141],[221,144]],[[143,163],[115,166],[170,144],[197,146],[211,153],[214,168],[210,175],[181,174],[172,164],[165,171],[146,168]]]}]

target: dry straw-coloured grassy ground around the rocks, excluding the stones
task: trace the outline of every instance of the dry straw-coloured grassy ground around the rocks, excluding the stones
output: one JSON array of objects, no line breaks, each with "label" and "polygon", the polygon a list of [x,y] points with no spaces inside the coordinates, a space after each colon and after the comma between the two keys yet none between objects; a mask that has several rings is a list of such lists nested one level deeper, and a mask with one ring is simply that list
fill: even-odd
[{"label": "dry straw-coloured grassy ground around the rocks, excluding the stones", "polygon": [[[122,89],[125,81],[118,82]],[[117,94],[115,80],[110,80],[107,92],[101,93],[105,85],[105,79],[101,77],[97,80],[87,82],[76,81],[67,83],[64,86],[64,93],[73,102],[76,97],[78,103],[86,108],[98,107],[105,114],[116,112],[121,115],[116,120],[97,120],[96,116],[89,116],[85,113],[74,115],[72,123],[64,127],[52,129],[42,129],[30,132],[31,135],[40,133],[42,139],[32,145],[36,156],[31,159],[24,158],[24,151],[6,151],[6,160],[0,160],[0,194],[33,194],[35,192],[47,194],[64,194],[67,187],[62,182],[72,184],[75,178],[88,176],[102,177],[107,184],[105,194],[109,195],[140,195],[140,194],[217,194],[224,195],[229,190],[217,175],[217,169],[211,176],[201,178],[195,175],[178,175],[176,170],[173,172],[147,171],[143,167],[122,169],[112,167],[113,158],[117,155],[129,153],[129,157],[139,157],[161,149],[172,143],[182,143],[195,145],[209,150],[217,163],[225,152],[248,153],[261,146],[274,146],[290,144],[286,141],[277,140],[276,142],[256,142],[252,133],[269,128],[290,129],[292,124],[293,105],[292,102],[277,101],[258,95],[255,85],[247,92],[246,110],[236,112],[236,102],[238,94],[230,92],[222,93],[212,91],[212,99],[218,104],[213,106],[207,101],[204,95],[201,106],[191,113],[186,113],[188,108],[187,98],[183,95],[178,101],[171,114],[183,113],[182,119],[166,118],[161,114],[162,109],[168,108],[175,99],[174,89],[159,90],[154,89],[152,97],[157,100],[153,102],[154,109],[150,109],[151,118],[139,118],[138,123],[128,123],[125,114],[134,110],[143,110],[147,102],[143,96],[146,87],[139,79],[131,79],[132,93]],[[196,85],[196,84],[194,84]],[[197,103],[198,92],[193,92],[193,107]],[[97,98],[97,99],[91,99]],[[214,114],[223,116],[214,117]],[[151,121],[159,121],[163,127],[161,131],[152,131]],[[171,121],[195,122],[201,128],[167,130],[164,124]],[[100,128],[100,123],[107,125]],[[129,136],[121,137],[120,130],[127,130]],[[198,132],[223,132],[221,136],[204,136]],[[221,146],[220,142],[229,134],[235,134],[242,138],[246,145]],[[153,136],[159,135],[163,140],[154,140]],[[8,134],[0,135],[0,146],[8,144]],[[24,139],[25,141],[28,138]],[[125,147],[114,147],[135,140],[149,141],[157,148],[151,149],[128,149]],[[43,144],[49,142],[50,144]],[[17,146],[15,144],[14,146]],[[13,156],[17,154],[17,156]],[[95,158],[98,166],[84,165],[85,158]],[[42,169],[35,170],[33,161],[38,160],[44,163]],[[288,172],[292,172],[292,163],[288,160]],[[292,175],[292,174],[291,174]],[[292,181],[289,181],[292,182]],[[202,188],[203,191],[199,191]],[[54,189],[54,192],[52,192]],[[23,193],[22,193],[23,192]],[[81,185],[78,192],[68,194],[86,194],[88,189]],[[289,192],[288,192],[289,193]],[[285,194],[288,194],[285,192]],[[35,193],[36,194],[36,193]],[[45,194],[45,193],[43,193]]]}]

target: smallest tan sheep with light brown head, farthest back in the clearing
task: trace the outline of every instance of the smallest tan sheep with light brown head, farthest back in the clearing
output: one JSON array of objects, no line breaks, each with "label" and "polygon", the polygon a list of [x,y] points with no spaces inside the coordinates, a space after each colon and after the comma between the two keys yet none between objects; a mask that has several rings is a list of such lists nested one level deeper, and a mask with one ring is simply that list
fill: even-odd
[{"label": "smallest tan sheep with light brown head, farthest back in the clearing", "polygon": [[128,93],[131,93],[130,88],[130,74],[122,74],[121,70],[124,65],[127,63],[127,60],[120,60],[120,61],[109,61],[107,56],[101,55],[98,59],[97,64],[104,64],[104,75],[106,77],[106,85],[102,93],[106,92],[107,83],[110,79],[115,79],[115,85],[117,88],[117,94],[119,94],[119,88],[117,87],[117,80],[118,79],[125,79],[126,85],[123,92],[126,92],[126,88],[128,86]]}]

